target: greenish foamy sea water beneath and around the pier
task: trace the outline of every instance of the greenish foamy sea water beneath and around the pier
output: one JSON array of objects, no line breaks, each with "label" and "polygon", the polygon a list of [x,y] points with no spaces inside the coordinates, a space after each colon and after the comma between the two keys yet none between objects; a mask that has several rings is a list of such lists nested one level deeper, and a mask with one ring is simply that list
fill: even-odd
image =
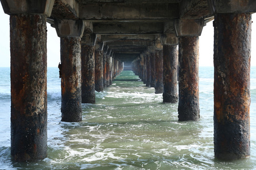
[{"label": "greenish foamy sea water beneath and around the pier", "polygon": [[[251,156],[214,159],[213,67],[200,67],[200,121],[179,122],[177,104],[123,71],[96,104],[82,104],[82,122],[61,122],[59,70],[49,67],[48,157],[12,162],[10,68],[0,68],[0,169],[256,169],[256,67],[251,67]],[[124,80],[124,81],[122,81]]]}]

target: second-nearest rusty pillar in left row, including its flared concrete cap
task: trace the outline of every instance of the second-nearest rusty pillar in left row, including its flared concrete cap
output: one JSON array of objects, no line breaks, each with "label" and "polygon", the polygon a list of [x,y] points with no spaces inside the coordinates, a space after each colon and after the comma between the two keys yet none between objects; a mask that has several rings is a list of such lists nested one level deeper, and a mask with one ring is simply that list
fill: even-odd
[{"label": "second-nearest rusty pillar in left row, including its flared concrete cap", "polygon": [[55,20],[60,37],[61,121],[82,120],[81,107],[81,36],[82,20]]}]

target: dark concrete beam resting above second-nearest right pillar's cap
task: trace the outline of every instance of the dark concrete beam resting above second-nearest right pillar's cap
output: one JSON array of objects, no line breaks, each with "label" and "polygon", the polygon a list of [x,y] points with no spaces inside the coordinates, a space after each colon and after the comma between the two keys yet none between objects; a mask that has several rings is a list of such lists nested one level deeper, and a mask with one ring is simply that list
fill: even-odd
[{"label": "dark concrete beam resting above second-nearest right pillar's cap", "polygon": [[208,18],[210,10],[207,0],[183,0],[180,2],[180,18]]}]

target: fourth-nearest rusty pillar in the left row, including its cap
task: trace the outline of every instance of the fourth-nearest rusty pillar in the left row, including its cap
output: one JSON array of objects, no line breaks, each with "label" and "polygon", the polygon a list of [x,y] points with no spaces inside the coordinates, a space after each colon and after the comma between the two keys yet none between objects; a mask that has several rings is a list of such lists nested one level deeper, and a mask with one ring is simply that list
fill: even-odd
[{"label": "fourth-nearest rusty pillar in the left row, including its cap", "polygon": [[95,90],[101,92],[104,90],[103,84],[103,47],[104,43],[98,41],[94,53],[95,57]]}]

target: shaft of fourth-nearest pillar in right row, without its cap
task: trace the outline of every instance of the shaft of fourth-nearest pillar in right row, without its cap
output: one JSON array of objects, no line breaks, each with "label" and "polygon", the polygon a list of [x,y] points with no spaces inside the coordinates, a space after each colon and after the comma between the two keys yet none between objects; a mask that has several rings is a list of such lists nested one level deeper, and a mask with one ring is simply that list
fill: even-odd
[{"label": "shaft of fourth-nearest pillar in right row, without its cap", "polygon": [[155,94],[163,93],[163,50],[155,50]]}]

